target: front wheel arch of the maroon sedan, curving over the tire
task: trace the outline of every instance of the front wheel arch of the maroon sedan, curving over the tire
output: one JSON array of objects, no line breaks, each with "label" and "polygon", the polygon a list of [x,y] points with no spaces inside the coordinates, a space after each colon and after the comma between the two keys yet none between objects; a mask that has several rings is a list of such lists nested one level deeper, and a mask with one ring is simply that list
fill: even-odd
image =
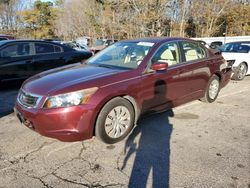
[{"label": "front wheel arch of the maroon sedan, curving over the tire", "polygon": [[[138,118],[140,116],[141,111],[140,111],[140,109],[139,109],[139,107],[138,107],[135,99],[133,97],[129,96],[129,95],[115,96],[115,97],[109,99],[108,101],[106,101],[102,105],[102,107],[100,108],[100,111],[105,106],[105,104],[107,104],[107,102],[109,102],[110,100],[115,99],[115,98],[123,98],[123,99],[126,99],[127,101],[129,101],[131,103],[131,105],[132,105],[132,107],[134,109],[134,112],[135,112],[135,123],[136,123],[136,121],[138,120]],[[98,115],[99,115],[100,111],[98,112]],[[93,126],[93,135],[94,136],[95,136],[96,120],[97,120],[98,115],[96,116],[96,119],[95,119],[95,122],[94,122],[94,126]]]}]

